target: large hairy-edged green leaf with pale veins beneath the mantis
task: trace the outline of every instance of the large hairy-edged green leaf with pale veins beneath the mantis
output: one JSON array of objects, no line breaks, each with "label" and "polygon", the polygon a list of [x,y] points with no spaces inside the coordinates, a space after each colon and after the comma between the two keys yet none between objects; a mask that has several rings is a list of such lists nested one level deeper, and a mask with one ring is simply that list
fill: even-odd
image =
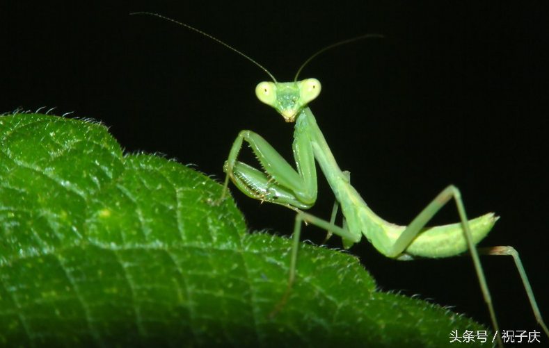
[{"label": "large hairy-edged green leaf with pale veins beneath the mantis", "polygon": [[1,347],[444,347],[486,330],[305,244],[271,318],[292,243],[248,233],[218,183],[123,155],[93,122],[4,115],[0,141]]}]

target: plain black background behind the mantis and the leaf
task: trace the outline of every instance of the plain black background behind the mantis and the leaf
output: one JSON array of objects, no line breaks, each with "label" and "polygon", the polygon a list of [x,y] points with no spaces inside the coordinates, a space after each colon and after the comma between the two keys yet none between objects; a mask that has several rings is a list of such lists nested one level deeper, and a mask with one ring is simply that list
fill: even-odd
[{"label": "plain black background behind the mantis and the leaf", "polygon": [[[130,12],[160,13],[207,31],[279,81],[293,79],[328,44],[385,35],[323,53],[302,73],[323,85],[311,108],[340,167],[391,222],[410,222],[449,183],[461,189],[470,217],[501,215],[482,245],[516,247],[549,317],[546,1],[1,6],[0,112],[56,107],[56,115],[91,117],[127,151],[160,152],[220,181],[241,129],[292,158],[292,124],[255,99],[255,85],[269,78],[186,28]],[[328,217],[333,194],[319,178],[312,213]],[[291,233],[292,211],[231,189],[250,229]],[[456,221],[452,204],[435,223]],[[305,230],[314,242],[324,237]],[[340,247],[340,239],[330,245]],[[419,294],[489,323],[469,258],[403,263],[367,242],[349,252],[384,290]],[[502,329],[540,331],[511,258],[483,262]]]}]

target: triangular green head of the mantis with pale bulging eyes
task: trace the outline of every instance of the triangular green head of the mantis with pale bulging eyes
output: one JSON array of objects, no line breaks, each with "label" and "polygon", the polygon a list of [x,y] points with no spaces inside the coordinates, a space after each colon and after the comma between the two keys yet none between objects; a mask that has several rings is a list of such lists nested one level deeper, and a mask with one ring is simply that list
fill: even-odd
[{"label": "triangular green head of the mantis with pale bulging eyes", "polygon": [[301,110],[320,94],[320,89],[320,81],[316,78],[299,82],[262,82],[255,88],[255,95],[275,108],[286,122],[294,122]]}]

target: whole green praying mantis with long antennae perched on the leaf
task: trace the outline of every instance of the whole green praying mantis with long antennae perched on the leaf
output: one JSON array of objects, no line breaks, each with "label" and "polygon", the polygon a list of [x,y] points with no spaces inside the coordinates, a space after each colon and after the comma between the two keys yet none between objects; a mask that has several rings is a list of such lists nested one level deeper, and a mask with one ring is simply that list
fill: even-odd
[{"label": "whole green praying mantis with long antennae perched on the leaf", "polygon": [[[279,83],[271,73],[262,67],[262,65],[255,62],[255,60],[207,33],[155,13],[132,13],[132,15],[134,14],[153,15],[182,25],[223,44],[228,49],[250,60],[264,70],[273,80],[273,82],[262,82],[257,85],[255,88],[257,98],[266,105],[275,108],[282,115],[285,122],[295,124],[292,149],[296,169],[280,156],[276,149],[271,147],[264,138],[253,131],[241,131],[239,133],[237,139],[232,144],[228,160],[223,167],[226,176],[223,185],[223,194],[219,199],[220,202],[227,197],[229,181],[232,181],[248,197],[258,199],[262,202],[280,204],[296,212],[287,290],[283,295],[283,299],[280,300],[271,315],[276,315],[283,308],[286,301],[288,301],[292,285],[296,279],[296,263],[301,225],[309,223],[328,231],[327,238],[333,234],[339,235],[342,238],[345,249],[360,242],[364,236],[381,254],[397,260],[445,258],[459,256],[466,253],[466,251],[470,251],[484,301],[486,301],[486,305],[488,306],[493,329],[496,333],[500,333],[500,329],[495,317],[490,291],[486,284],[479,254],[512,256],[520,278],[523,281],[527,296],[530,299],[536,320],[549,337],[549,330],[545,322],[543,322],[517,251],[513,247],[476,247],[486,237],[488,232],[491,231],[498,220],[498,217],[494,213],[488,213],[475,219],[468,219],[461,199],[461,192],[454,185],[449,185],[408,226],[392,224],[376,215],[367,206],[363,198],[360,197],[360,194],[351,185],[349,172],[342,171],[337,165],[315,116],[309,107],[309,103],[319,96],[321,84],[316,78],[307,78],[303,81],[297,81],[297,78],[301,69],[319,53],[340,44],[367,37],[381,37],[381,35],[363,35],[359,38],[345,40],[326,47],[305,61],[297,72],[294,82]],[[238,160],[239,152],[244,142],[250,145],[250,148],[262,166],[262,170]],[[315,160],[319,164],[336,199],[330,221],[319,219],[303,212],[303,210],[311,208],[317,200]],[[460,222],[443,226],[426,227],[429,220],[436,215],[438,210],[452,199],[455,201]],[[339,208],[341,208],[344,217],[341,227],[335,225],[335,217]],[[502,347],[500,335],[497,335],[497,340],[498,345]]]}]

